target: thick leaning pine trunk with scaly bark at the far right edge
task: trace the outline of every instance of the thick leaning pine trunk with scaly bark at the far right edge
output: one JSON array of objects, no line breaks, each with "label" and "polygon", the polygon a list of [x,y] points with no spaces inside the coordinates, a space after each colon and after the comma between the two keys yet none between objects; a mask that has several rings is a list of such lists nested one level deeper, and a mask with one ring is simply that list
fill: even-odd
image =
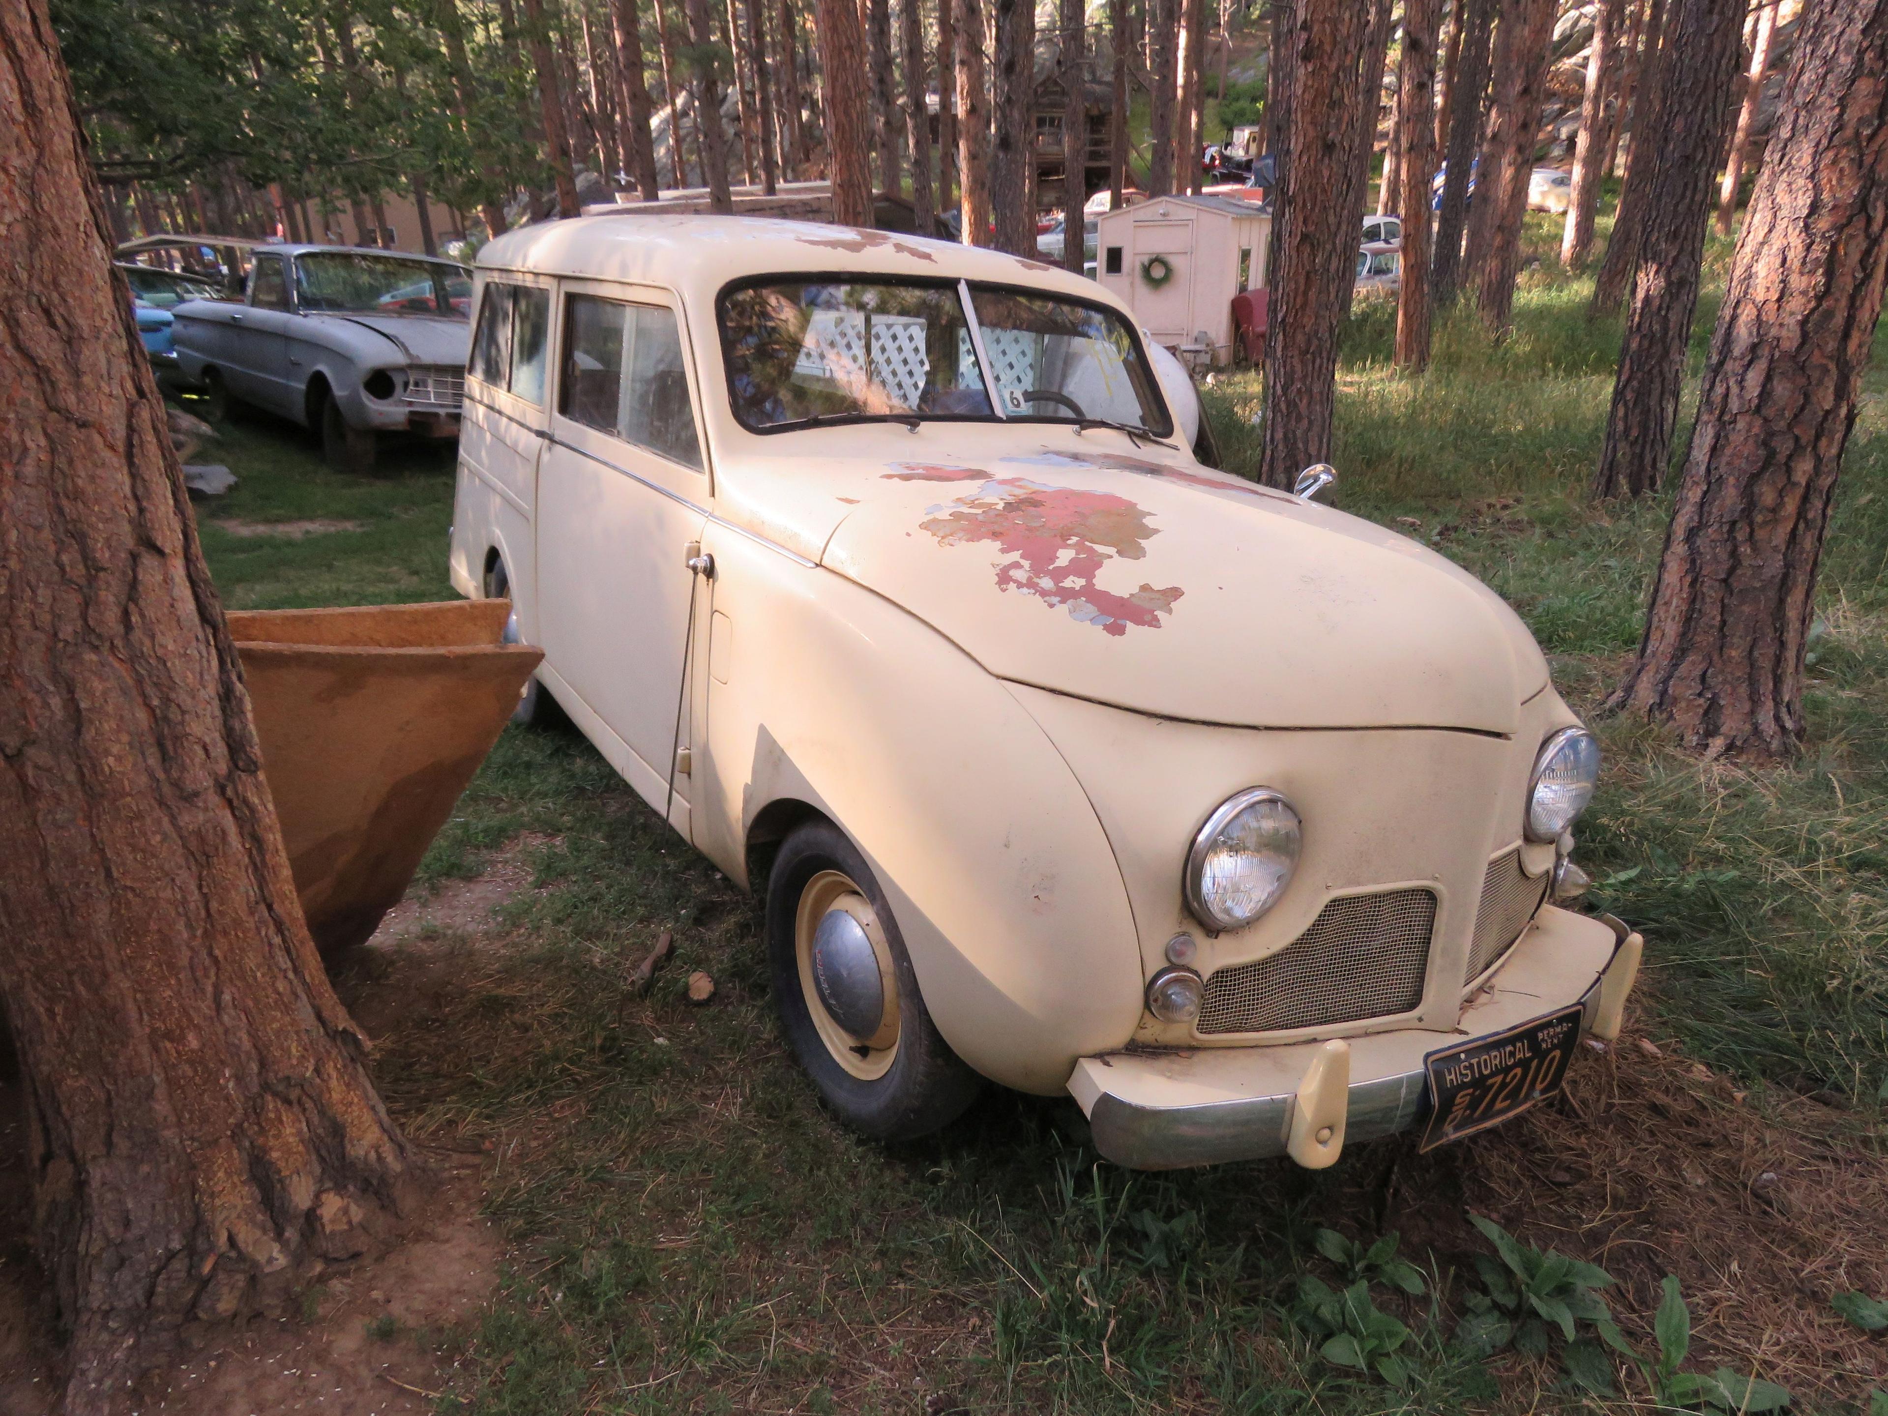
[{"label": "thick leaning pine trunk with scaly bark at the far right edge", "polygon": [[1888,0],[1811,6],[1614,708],[1707,755],[1803,738],[1803,651],[1888,268]]}]

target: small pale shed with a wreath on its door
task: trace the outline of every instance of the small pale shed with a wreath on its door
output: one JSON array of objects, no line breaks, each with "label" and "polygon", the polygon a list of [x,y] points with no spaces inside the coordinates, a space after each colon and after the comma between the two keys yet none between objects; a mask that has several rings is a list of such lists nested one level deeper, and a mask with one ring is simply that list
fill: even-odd
[{"label": "small pale shed with a wreath on its door", "polygon": [[1271,208],[1235,196],[1155,196],[1106,211],[1095,279],[1169,349],[1233,357],[1233,296],[1265,289]]}]

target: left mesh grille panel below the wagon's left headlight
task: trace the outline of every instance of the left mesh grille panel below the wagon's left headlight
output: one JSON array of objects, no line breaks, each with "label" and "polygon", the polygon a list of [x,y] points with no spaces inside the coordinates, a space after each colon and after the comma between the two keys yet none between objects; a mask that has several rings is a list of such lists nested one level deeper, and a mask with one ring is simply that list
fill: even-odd
[{"label": "left mesh grille panel below the wagon's left headlight", "polygon": [[1218,969],[1199,1031],[1274,1033],[1410,1012],[1422,1003],[1433,929],[1427,889],[1331,901],[1278,953]]}]

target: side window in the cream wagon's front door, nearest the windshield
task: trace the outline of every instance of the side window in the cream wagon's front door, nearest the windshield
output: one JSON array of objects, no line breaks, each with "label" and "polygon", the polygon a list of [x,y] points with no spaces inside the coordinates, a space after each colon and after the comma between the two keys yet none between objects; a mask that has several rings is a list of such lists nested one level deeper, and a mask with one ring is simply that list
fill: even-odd
[{"label": "side window in the cream wagon's front door, nearest the windshield", "polygon": [[565,417],[700,468],[672,310],[572,295],[563,366],[557,412]]}]

